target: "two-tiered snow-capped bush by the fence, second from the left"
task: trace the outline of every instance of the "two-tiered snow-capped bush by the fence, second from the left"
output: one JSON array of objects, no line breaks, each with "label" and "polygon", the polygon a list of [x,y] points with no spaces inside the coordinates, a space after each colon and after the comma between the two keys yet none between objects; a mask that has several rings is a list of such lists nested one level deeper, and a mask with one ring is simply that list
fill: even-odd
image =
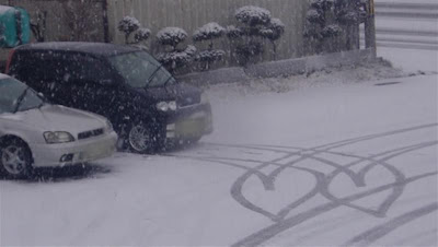
[{"label": "two-tiered snow-capped bush by the fence, second from the left", "polygon": [[157,40],[171,50],[158,56],[158,60],[170,71],[188,66],[196,54],[196,47],[187,46],[178,49],[178,45],[187,38],[187,33],[180,27],[165,27],[157,34]]}]

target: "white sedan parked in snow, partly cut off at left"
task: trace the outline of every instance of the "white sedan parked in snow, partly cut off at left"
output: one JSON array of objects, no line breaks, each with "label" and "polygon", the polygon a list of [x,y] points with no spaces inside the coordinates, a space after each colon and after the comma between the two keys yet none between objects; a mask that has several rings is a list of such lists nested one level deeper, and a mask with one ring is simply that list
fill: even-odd
[{"label": "white sedan parked in snow, partly cut off at left", "polygon": [[0,173],[25,178],[34,167],[92,162],[115,152],[117,134],[104,117],[51,105],[0,73]]}]

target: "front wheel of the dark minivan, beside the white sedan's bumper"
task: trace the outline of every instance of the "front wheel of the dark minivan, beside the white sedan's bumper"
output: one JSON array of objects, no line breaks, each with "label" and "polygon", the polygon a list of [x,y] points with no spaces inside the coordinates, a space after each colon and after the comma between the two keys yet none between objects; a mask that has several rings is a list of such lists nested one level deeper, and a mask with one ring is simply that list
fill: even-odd
[{"label": "front wheel of the dark minivan, beside the white sedan's bumper", "polygon": [[137,153],[150,153],[154,150],[155,140],[152,131],[142,122],[134,125],[128,132],[130,149]]}]

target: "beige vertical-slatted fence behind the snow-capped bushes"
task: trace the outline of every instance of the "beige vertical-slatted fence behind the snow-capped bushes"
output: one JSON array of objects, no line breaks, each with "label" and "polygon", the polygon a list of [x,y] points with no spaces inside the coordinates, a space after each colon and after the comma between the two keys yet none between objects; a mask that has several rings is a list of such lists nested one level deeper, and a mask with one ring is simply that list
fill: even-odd
[{"label": "beige vertical-slatted fence behind the snow-capped bushes", "polygon": [[[307,0],[108,0],[110,33],[115,43],[123,43],[124,36],[117,31],[117,23],[130,15],[150,28],[153,37],[165,26],[183,27],[192,35],[208,22],[218,22],[222,26],[235,24],[234,11],[249,4],[268,9],[274,17],[286,24],[286,33],[279,40],[278,59],[303,55]],[[148,45],[157,51],[157,45],[151,40]],[[229,46],[226,38],[218,44]],[[270,47],[269,44],[266,47]]]}]

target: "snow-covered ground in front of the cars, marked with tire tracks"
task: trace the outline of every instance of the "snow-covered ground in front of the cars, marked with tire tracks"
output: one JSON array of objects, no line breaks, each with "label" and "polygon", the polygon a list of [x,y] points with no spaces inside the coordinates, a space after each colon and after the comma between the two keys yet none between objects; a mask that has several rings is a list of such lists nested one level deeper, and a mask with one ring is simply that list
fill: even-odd
[{"label": "snow-covered ground in front of the cars, marked with tire tracks", "polygon": [[198,145],[0,180],[0,244],[437,246],[437,89],[214,87],[216,132]]}]

